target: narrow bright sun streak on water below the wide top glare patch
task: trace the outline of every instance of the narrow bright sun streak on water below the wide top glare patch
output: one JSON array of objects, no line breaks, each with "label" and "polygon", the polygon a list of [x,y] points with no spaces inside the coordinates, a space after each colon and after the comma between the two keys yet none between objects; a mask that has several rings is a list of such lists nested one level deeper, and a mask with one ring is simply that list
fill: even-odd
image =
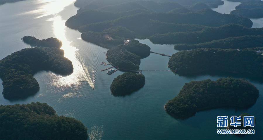
[{"label": "narrow bright sun streak on water below the wide top glare patch", "polygon": [[[71,75],[68,76],[57,76],[54,78],[53,84],[58,87],[71,86],[71,85],[80,85],[81,82],[87,82],[90,87],[94,88],[94,72],[90,71],[82,61],[81,58],[77,58],[78,49],[74,46],[71,46],[71,42],[66,38],[66,20],[62,20],[60,15],[57,15],[54,18],[48,19],[48,21],[53,21],[53,32],[55,37],[61,40],[62,47],[64,50],[64,56],[71,60],[73,64],[74,71]],[[91,74],[93,76],[91,76]],[[55,74],[53,74],[55,76]]]}]

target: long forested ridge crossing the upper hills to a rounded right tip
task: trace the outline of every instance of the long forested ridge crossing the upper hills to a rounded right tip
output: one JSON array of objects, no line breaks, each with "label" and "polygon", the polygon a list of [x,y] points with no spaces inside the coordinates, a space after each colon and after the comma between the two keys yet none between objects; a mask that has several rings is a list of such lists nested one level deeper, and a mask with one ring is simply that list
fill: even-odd
[{"label": "long forested ridge crossing the upper hills to a rounded right tip", "polygon": [[[207,20],[209,19],[209,20]],[[137,33],[144,28],[149,28],[150,20],[157,20],[164,23],[176,24],[197,24],[204,26],[217,27],[225,24],[240,24],[246,27],[252,26],[252,21],[248,18],[238,17],[232,14],[221,14],[211,9],[203,9],[191,13],[137,13],[126,17],[108,20],[104,22],[91,23],[79,27],[80,32],[95,31],[101,32],[104,29],[123,26]],[[161,26],[165,27],[165,26]],[[150,28],[151,30],[154,28]],[[171,31],[172,32],[172,31]]]}]

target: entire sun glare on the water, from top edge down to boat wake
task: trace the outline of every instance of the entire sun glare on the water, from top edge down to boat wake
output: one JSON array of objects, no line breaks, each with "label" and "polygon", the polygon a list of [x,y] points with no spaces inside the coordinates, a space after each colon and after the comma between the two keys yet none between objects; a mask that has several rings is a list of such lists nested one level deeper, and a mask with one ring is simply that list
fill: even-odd
[{"label": "entire sun glare on the water, from top edge down to boat wake", "polygon": [[[69,87],[69,86],[79,86],[82,82],[87,83],[94,89],[94,71],[89,70],[85,66],[82,58],[78,57],[78,49],[74,46],[71,46],[71,42],[66,38],[66,20],[62,20],[61,12],[66,6],[72,4],[74,1],[38,1],[40,8],[33,11],[27,11],[22,14],[36,14],[37,18],[42,18],[49,15],[54,15],[54,17],[47,19],[47,21],[52,21],[53,33],[56,38],[61,40],[62,47],[64,50],[64,56],[68,58],[73,64],[73,73],[68,76],[56,75],[50,73],[53,77],[52,85],[57,87]],[[92,76],[91,76],[92,75]]]}]

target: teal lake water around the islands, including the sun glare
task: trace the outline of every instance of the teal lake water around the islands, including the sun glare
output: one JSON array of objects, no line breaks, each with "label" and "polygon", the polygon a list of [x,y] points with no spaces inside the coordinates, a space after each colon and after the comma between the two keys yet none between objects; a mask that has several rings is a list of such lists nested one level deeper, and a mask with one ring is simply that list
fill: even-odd
[{"label": "teal lake water around the islands, including the sun glare", "polygon": [[[73,74],[62,77],[49,71],[34,75],[39,82],[37,94],[24,100],[8,101],[0,94],[0,103],[44,102],[58,115],[75,117],[88,127],[89,139],[262,139],[263,84],[251,81],[259,89],[259,98],[247,110],[214,109],[196,113],[186,120],[177,120],[164,111],[164,104],[175,97],[183,85],[192,80],[212,79],[221,76],[202,75],[182,77],[167,71],[143,71],[145,86],[125,97],[110,93],[112,80],[123,72],[112,75],[101,72],[107,66],[107,49],[80,39],[80,32],[64,25],[78,8],[74,1],[20,1],[1,5],[0,58],[30,47],[21,42],[23,36],[38,39],[56,37],[63,43],[65,57],[73,63]],[[139,40],[154,52],[172,55],[173,45],[154,45],[149,39]],[[169,70],[169,57],[151,54],[141,60],[141,70]],[[2,81],[0,81],[2,82]],[[1,85],[1,92],[3,86]],[[94,90],[92,89],[94,88]],[[216,117],[255,115],[255,135],[237,137],[216,134]]]}]

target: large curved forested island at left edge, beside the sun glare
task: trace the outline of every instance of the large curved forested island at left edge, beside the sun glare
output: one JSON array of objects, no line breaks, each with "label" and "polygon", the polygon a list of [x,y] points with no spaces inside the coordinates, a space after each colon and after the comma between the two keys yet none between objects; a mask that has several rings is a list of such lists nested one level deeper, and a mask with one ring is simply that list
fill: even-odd
[{"label": "large curved forested island at left edge, beside the sun glare", "polygon": [[25,48],[3,58],[0,61],[0,78],[3,80],[4,98],[12,100],[37,93],[39,84],[33,75],[41,70],[69,75],[73,72],[73,65],[64,57],[63,50],[53,46]]}]

